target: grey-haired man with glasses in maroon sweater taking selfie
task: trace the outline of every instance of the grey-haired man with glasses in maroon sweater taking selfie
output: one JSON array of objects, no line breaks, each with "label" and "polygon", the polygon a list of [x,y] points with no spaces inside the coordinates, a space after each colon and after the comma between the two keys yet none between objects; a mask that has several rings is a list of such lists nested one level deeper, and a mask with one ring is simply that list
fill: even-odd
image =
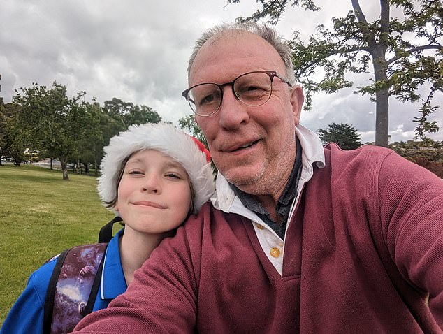
[{"label": "grey-haired man with glasses in maroon sweater taking selfie", "polygon": [[324,149],[299,124],[289,49],[266,26],[211,29],[188,73],[215,208],[80,333],[440,332],[442,180],[380,147]]}]

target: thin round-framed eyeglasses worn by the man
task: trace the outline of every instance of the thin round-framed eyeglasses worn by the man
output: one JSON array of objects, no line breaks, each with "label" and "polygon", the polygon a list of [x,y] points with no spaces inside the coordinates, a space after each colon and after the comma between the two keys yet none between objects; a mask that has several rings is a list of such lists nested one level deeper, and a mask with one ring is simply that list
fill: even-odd
[{"label": "thin round-framed eyeglasses worn by the man", "polygon": [[265,104],[273,93],[273,79],[279,78],[289,87],[291,83],[282,78],[275,71],[254,71],[242,74],[231,82],[222,85],[215,83],[201,83],[189,87],[182,96],[187,99],[192,111],[198,116],[214,115],[222,106],[223,88],[231,85],[235,99],[246,106],[258,107]]}]

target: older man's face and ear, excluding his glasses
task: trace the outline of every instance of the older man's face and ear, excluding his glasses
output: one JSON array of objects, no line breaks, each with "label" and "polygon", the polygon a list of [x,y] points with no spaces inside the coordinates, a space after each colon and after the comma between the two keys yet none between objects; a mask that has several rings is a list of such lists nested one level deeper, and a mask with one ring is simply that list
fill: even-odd
[{"label": "older man's face and ear, excluding his glasses", "polygon": [[[191,68],[191,85],[223,84],[250,71],[277,71],[286,77],[277,51],[263,38],[231,31],[203,45]],[[222,106],[210,117],[196,116],[212,159],[226,179],[249,194],[281,194],[296,154],[295,126],[303,93],[274,78],[262,106],[245,106],[224,87]]]}]

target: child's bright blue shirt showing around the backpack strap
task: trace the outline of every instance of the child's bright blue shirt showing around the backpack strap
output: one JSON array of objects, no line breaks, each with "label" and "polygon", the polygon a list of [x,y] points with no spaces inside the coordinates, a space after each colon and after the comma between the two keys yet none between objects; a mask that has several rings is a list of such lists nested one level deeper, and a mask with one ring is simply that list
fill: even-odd
[{"label": "child's bright blue shirt showing around the backpack strap", "polygon": [[[126,291],[122,261],[120,261],[119,237],[122,228],[109,242],[103,263],[103,273],[99,293],[94,303],[93,311],[108,307],[112,299]],[[43,312],[45,308],[46,290],[56,259],[38,268],[28,279],[28,283],[20,297],[10,309],[5,322],[0,328],[0,334],[10,333],[43,333]]]}]

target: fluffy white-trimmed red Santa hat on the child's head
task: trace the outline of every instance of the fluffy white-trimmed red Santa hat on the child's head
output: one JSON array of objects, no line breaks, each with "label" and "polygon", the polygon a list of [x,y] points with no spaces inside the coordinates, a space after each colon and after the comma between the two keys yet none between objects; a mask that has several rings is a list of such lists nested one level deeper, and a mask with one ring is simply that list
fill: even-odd
[{"label": "fluffy white-trimmed red Santa hat on the child's head", "polygon": [[[166,123],[129,126],[127,131],[110,139],[104,148],[99,177],[99,196],[103,204],[117,196],[117,178],[122,164],[140,150],[157,150],[180,162],[187,171],[194,190],[194,213],[215,191],[210,153],[196,138]],[[113,210],[117,215],[119,213]]]}]

